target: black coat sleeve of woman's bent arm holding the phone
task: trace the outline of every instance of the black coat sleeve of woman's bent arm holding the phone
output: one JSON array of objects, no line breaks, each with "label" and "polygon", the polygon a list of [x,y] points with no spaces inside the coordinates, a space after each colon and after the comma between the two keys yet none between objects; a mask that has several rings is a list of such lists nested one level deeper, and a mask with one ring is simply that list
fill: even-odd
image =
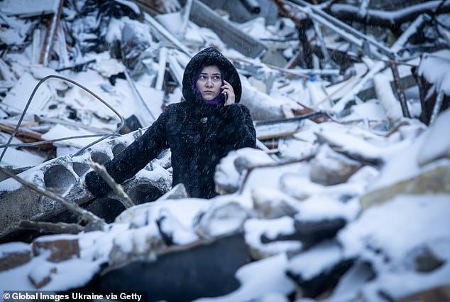
[{"label": "black coat sleeve of woman's bent arm holding the phone", "polygon": [[234,139],[234,149],[256,147],[256,131],[248,108],[242,104],[231,104],[224,107],[225,124],[221,131],[221,139]]}]

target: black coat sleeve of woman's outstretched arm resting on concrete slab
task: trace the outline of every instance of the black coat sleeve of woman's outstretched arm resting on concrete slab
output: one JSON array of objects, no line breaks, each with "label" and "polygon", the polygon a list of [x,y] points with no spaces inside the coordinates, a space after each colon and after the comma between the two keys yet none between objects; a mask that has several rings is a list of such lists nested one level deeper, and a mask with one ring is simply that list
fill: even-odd
[{"label": "black coat sleeve of woman's outstretched arm resting on concrete slab", "polygon": [[[116,180],[123,183],[141,171],[160,151],[168,148],[165,134],[165,123],[168,118],[168,110],[160,114],[160,117],[147,131],[138,137],[124,151],[113,160],[105,164],[106,171]],[[106,195],[111,188],[106,181],[95,171],[87,173],[85,178],[87,189],[97,198]]]}]

